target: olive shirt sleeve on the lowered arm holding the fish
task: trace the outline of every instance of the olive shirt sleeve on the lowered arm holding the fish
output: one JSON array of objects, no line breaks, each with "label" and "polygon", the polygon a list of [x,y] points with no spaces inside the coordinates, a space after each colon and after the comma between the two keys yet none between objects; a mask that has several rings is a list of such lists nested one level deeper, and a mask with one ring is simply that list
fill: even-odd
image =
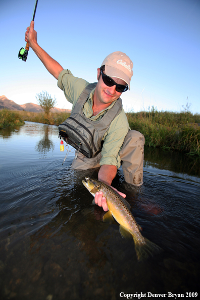
[{"label": "olive shirt sleeve on the lowered arm holding the fish", "polygon": [[119,152],[124,142],[124,138],[129,130],[128,120],[125,112],[122,112],[111,122],[110,128],[104,136],[102,148],[102,159],[100,165],[113,165],[117,168],[121,165]]}]

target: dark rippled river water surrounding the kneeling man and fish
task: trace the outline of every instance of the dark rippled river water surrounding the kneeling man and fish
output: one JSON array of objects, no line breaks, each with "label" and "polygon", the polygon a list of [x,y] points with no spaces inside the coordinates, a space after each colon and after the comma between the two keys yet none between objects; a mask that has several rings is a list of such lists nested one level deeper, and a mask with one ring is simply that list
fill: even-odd
[{"label": "dark rippled river water surrounding the kneeling man and fish", "polygon": [[126,184],[118,170],[113,186],[126,193],[142,235],[163,249],[138,262],[133,240],[91,204],[82,179],[97,178],[97,171],[72,170],[71,152],[62,166],[57,126],[26,122],[1,130],[0,153],[1,299],[197,292],[199,160],[146,148],[140,187]]}]

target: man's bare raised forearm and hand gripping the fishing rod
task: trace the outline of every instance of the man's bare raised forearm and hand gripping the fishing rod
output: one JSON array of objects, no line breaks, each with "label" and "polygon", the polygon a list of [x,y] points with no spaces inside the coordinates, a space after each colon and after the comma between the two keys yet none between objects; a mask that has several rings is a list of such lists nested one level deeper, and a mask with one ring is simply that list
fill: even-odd
[{"label": "man's bare raised forearm and hand gripping the fishing rod", "polygon": [[34,30],[34,21],[31,21],[30,27],[26,30],[25,41],[29,43],[29,46],[33,49],[34,53],[43,63],[48,72],[58,80],[63,67],[38,45],[37,32]]}]

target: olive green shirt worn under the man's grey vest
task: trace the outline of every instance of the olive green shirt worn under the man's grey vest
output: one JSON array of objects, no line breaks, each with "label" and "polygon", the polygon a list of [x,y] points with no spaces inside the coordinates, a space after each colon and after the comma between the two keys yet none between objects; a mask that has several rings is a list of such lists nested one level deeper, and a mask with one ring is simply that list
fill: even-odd
[{"label": "olive green shirt worn under the man's grey vest", "polygon": [[[65,97],[70,103],[72,103],[72,110],[80,94],[88,84],[89,82],[87,82],[86,80],[74,77],[70,70],[63,70],[58,78],[58,87],[60,87],[64,91]],[[117,100],[111,103],[111,105],[107,109],[101,111],[96,116],[93,116],[92,105],[94,90],[95,88],[91,91],[89,98],[87,99],[83,107],[83,113],[86,118],[92,121],[98,121],[106,114],[109,109],[114,106]],[[122,108],[122,111],[111,122],[108,131],[103,137],[104,144],[102,148],[102,159],[99,163],[101,166],[113,165],[117,168],[120,167],[121,160],[119,152],[129,129],[130,128],[128,125],[128,120]]]}]

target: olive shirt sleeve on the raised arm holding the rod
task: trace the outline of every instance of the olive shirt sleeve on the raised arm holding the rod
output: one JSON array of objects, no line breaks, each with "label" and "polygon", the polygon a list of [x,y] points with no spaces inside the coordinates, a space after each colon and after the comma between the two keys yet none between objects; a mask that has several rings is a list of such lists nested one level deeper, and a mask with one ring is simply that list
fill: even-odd
[{"label": "olive shirt sleeve on the raised arm holding the rod", "polygon": [[70,70],[63,70],[59,74],[58,87],[64,91],[67,101],[72,103],[73,107],[88,84],[86,80],[74,77]]}]

